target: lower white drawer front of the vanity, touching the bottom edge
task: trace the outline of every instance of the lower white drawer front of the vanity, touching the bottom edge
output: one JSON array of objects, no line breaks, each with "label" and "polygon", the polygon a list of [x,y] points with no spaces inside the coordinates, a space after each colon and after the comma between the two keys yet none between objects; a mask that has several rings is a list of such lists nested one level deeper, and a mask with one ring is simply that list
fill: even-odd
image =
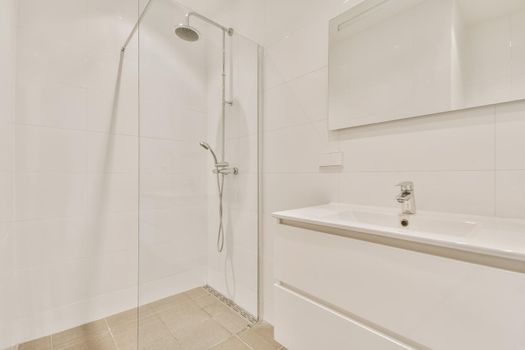
[{"label": "lower white drawer front of the vanity, touching the bottom edge", "polygon": [[275,339],[290,350],[411,349],[281,285],[274,297]]}]

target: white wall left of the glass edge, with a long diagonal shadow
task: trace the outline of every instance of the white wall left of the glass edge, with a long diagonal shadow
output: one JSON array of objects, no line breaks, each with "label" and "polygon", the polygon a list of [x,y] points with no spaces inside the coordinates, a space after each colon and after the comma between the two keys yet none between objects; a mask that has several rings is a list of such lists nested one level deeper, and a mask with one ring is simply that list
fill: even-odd
[{"label": "white wall left of the glass edge, with a long diagonal shadow", "polygon": [[7,300],[12,340],[24,341],[136,304],[136,40],[122,62],[119,49],[137,2],[16,3],[16,297]]}]

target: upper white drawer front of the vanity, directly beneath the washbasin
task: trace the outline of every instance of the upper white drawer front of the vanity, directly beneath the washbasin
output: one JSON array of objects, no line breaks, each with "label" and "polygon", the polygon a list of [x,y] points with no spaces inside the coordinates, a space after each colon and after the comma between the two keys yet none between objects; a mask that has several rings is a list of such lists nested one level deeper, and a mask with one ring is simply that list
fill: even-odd
[{"label": "upper white drawer front of the vanity, directly beneath the washbasin", "polygon": [[396,339],[525,349],[525,274],[284,225],[274,252],[276,281]]}]

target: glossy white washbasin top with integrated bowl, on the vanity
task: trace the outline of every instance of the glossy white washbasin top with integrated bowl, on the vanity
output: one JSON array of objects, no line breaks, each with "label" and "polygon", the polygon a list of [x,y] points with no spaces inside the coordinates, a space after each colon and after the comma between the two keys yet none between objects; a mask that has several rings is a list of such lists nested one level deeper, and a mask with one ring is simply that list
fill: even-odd
[{"label": "glossy white washbasin top with integrated bowl, on the vanity", "polygon": [[[443,256],[449,255],[443,252],[449,249],[450,256],[459,259],[458,252],[475,254],[477,257],[465,260],[525,272],[525,220],[425,211],[401,215],[396,208],[341,203],[281,211],[273,216],[282,224],[379,244],[381,239],[400,247],[406,242],[406,249],[413,249],[416,243],[437,248]],[[431,254],[435,254],[434,248],[429,249]],[[514,266],[516,263],[519,266]]]}]

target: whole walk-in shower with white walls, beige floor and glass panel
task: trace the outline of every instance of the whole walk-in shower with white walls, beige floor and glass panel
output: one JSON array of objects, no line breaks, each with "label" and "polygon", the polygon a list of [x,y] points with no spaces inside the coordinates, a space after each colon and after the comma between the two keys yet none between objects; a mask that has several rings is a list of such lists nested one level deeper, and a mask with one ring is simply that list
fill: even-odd
[{"label": "whole walk-in shower with white walls, beige floor and glass panel", "polygon": [[0,3],[0,349],[206,348],[260,318],[262,50],[190,7]]}]

